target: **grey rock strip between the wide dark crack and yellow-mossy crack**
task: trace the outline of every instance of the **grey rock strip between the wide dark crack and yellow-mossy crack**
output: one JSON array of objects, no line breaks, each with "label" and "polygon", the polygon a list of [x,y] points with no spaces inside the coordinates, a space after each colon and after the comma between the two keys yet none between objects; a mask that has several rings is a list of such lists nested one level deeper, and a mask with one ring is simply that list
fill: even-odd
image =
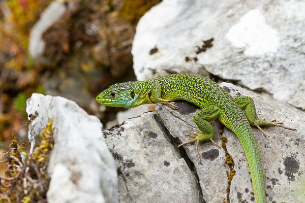
[{"label": "grey rock strip between the wide dark crack and yellow-mossy crack", "polygon": [[[186,133],[200,132],[193,121],[193,116],[198,108],[186,101],[175,104],[178,105],[177,110],[171,110],[166,106],[158,104],[156,111],[169,133],[174,139],[178,139],[179,144],[181,144],[190,140],[189,137],[185,136]],[[212,126],[215,129],[214,140],[221,145],[220,132],[223,127],[219,122],[212,122]],[[228,187],[227,173],[230,170],[229,166],[225,164],[225,151],[219,149],[211,142],[201,144],[199,153],[202,156],[202,164],[200,164],[194,144],[187,145],[185,150],[188,154],[188,159],[195,165],[204,201],[226,201],[226,189]]]}]

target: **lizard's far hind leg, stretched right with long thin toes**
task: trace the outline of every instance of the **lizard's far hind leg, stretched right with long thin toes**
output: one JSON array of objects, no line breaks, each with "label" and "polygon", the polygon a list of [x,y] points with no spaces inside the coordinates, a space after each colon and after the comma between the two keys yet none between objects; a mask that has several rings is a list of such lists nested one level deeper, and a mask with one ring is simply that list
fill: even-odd
[{"label": "lizard's far hind leg, stretched right with long thin toes", "polygon": [[284,126],[283,123],[276,122],[276,119],[273,119],[271,121],[265,121],[265,119],[262,120],[257,119],[254,101],[250,96],[240,95],[240,96],[233,96],[233,98],[241,110],[246,109],[246,117],[250,125],[256,126],[258,129],[260,129],[264,133],[265,137],[266,137],[266,133],[262,130],[260,126],[275,125],[289,130],[296,130],[294,128]]}]

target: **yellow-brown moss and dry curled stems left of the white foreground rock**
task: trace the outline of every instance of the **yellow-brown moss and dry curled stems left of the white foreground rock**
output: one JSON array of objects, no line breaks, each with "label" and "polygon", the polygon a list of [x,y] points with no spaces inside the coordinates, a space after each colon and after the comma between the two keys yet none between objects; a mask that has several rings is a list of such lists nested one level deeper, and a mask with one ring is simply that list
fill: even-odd
[{"label": "yellow-brown moss and dry curled stems left of the white foreground rock", "polygon": [[[46,192],[50,183],[47,166],[54,143],[52,124],[50,116],[50,122],[39,136],[40,143],[29,155],[12,135],[13,140],[5,153],[7,169],[5,176],[0,177],[0,202],[47,202]],[[22,162],[21,154],[27,157],[25,163]]]}]

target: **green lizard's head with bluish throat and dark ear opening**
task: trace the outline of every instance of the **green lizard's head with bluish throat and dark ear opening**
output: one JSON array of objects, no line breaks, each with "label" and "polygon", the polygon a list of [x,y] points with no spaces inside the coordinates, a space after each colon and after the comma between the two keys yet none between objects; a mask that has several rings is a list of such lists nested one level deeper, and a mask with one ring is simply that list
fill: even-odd
[{"label": "green lizard's head with bluish throat and dark ear opening", "polygon": [[133,82],[114,84],[102,91],[97,96],[101,105],[109,107],[134,107],[135,91]]}]

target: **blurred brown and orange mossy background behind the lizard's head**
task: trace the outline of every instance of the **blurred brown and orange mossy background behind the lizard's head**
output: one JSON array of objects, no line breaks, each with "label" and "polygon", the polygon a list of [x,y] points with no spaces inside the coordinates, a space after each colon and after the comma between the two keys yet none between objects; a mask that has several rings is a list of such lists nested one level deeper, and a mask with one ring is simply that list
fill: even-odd
[{"label": "blurred brown and orange mossy background behind the lizard's head", "polygon": [[113,120],[122,109],[106,109],[96,95],[113,83],[136,80],[135,27],[160,2],[0,1],[0,150],[12,133],[27,143],[26,99],[34,92],[64,96],[103,123]]}]

